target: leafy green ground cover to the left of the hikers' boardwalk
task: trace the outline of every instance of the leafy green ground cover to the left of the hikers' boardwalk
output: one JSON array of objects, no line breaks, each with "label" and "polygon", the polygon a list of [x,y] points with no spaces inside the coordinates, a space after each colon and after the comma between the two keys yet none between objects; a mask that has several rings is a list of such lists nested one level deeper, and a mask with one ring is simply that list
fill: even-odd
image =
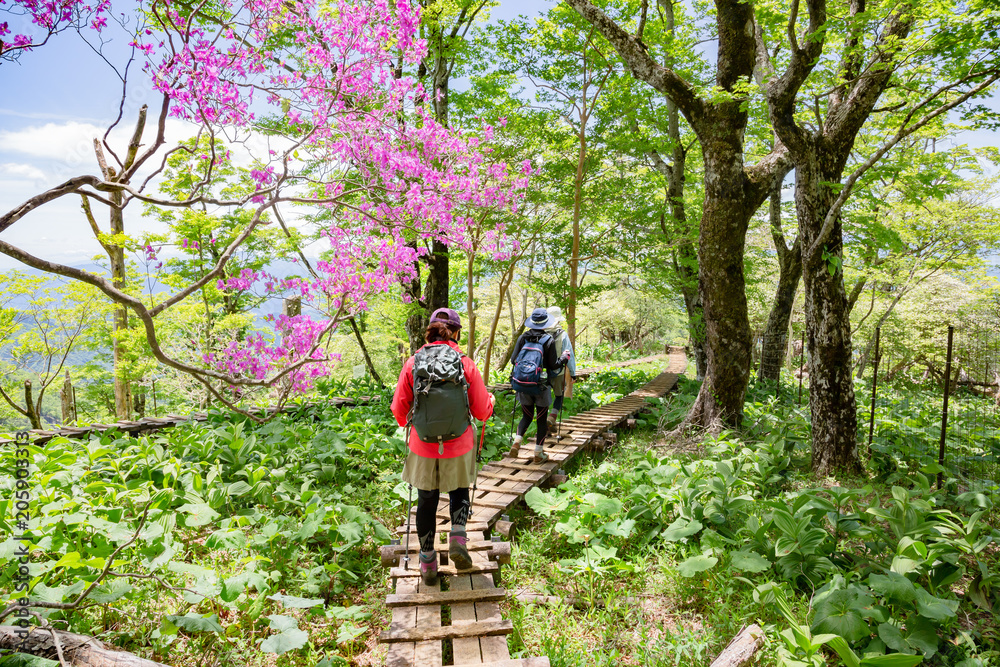
[{"label": "leafy green ground cover to the left of the hikers' boardwalk", "polygon": [[[576,387],[569,412],[646,380],[598,374]],[[52,605],[41,611],[56,627],[171,665],[376,662],[388,592],[377,547],[405,516],[404,432],[379,387],[319,389],[374,398],[264,425],[213,412],[136,439],[31,447],[26,530],[14,475],[0,480],[0,609],[19,597],[14,538],[25,533],[31,598]],[[514,403],[499,398],[487,459],[509,442]],[[12,473],[14,448],[2,456]]]}]

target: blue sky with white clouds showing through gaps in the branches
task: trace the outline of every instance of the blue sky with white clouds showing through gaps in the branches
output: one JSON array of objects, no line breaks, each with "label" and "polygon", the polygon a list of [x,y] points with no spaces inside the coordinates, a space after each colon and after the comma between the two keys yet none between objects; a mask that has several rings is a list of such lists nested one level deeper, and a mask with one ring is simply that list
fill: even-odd
[{"label": "blue sky with white clouds showing through gaps in the branches", "polygon": [[[492,17],[535,15],[554,4],[555,0],[501,0]],[[12,27],[17,32],[18,26]],[[109,59],[123,61],[127,41],[122,37],[111,41],[105,47]],[[138,68],[132,76],[137,83],[144,80]],[[94,173],[92,141],[103,135],[118,112],[121,82],[80,37],[59,35],[44,48],[24,54],[21,63],[0,65],[0,91],[0,211],[10,210],[66,178]],[[125,119],[112,135],[113,145],[115,138],[119,143],[125,141],[139,106],[151,97],[147,86],[130,87]],[[184,134],[179,123],[172,124],[170,131],[176,138]],[[968,133],[963,140],[973,146],[995,145],[996,135]],[[129,233],[154,229],[140,216],[139,207],[126,215]],[[3,238],[29,252],[69,264],[88,263],[101,253],[76,198],[47,204],[3,232]],[[20,267],[0,255],[0,270]]]}]

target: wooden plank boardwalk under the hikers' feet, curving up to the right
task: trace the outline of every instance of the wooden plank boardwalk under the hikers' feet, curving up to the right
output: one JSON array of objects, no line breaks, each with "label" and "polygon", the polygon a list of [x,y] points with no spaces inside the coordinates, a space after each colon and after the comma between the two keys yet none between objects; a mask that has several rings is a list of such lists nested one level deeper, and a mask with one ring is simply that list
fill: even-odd
[{"label": "wooden plank boardwalk under the hikers' feet, curving up to the right", "polygon": [[[548,667],[546,657],[510,657],[507,635],[514,626],[500,615],[499,602],[506,597],[506,591],[497,584],[500,566],[510,561],[510,543],[499,539],[501,535],[510,538],[511,526],[501,517],[531,488],[564,479],[557,476],[557,470],[581,451],[613,443],[616,435],[612,429],[641,412],[647,398],[673,389],[685,365],[683,353],[674,352],[666,371],[645,386],[613,403],[563,420],[558,437],[552,434],[546,439],[549,460],[545,463],[531,462],[531,442],[521,448],[522,457],[504,457],[486,464],[477,478],[467,526],[474,563],[471,570],[459,573],[451,564],[439,565],[437,585],[425,586],[420,581],[414,508],[409,562],[402,559],[405,544],[382,547],[382,564],[389,568],[393,583],[393,593],[386,598],[392,621],[379,636],[380,642],[389,644],[387,667]],[[447,559],[450,528],[448,498],[443,494],[437,526],[437,549],[442,560]],[[403,542],[406,526],[400,526],[397,532]]]}]

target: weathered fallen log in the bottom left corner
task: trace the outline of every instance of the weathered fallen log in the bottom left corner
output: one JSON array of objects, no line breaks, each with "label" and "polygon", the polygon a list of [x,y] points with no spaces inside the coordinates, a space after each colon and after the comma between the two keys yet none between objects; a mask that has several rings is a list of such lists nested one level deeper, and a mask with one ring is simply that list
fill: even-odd
[{"label": "weathered fallen log in the bottom left corner", "polygon": [[[52,633],[48,630],[32,628],[26,638],[17,634],[21,628],[0,625],[0,651],[15,651],[28,655],[59,660]],[[59,637],[66,664],[72,667],[168,667],[160,662],[146,660],[126,651],[118,651],[99,639],[78,635],[73,632],[55,631]]]}]

